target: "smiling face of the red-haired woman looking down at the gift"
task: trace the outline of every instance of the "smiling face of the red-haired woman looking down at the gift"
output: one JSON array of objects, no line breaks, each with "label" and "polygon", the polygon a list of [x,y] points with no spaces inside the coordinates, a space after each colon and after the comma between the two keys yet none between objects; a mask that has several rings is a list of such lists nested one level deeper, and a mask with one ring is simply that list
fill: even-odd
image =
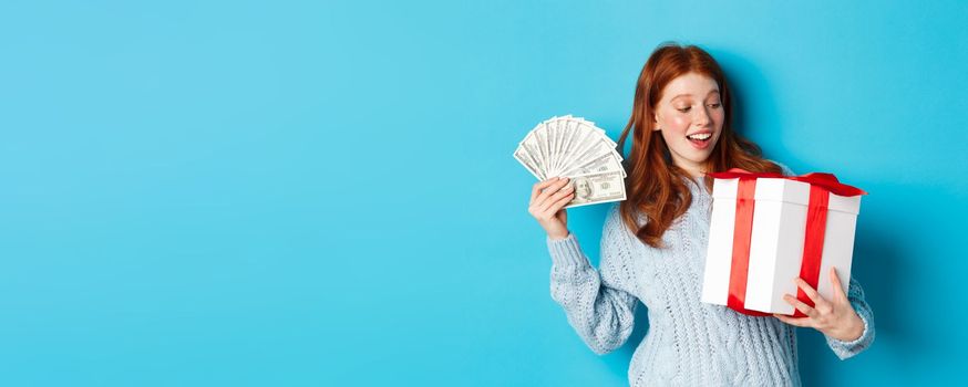
[{"label": "smiling face of the red-haired woman looking down at the gift", "polygon": [[719,85],[709,76],[687,73],[669,82],[661,95],[655,107],[656,130],[662,130],[672,163],[702,176],[725,117]]}]

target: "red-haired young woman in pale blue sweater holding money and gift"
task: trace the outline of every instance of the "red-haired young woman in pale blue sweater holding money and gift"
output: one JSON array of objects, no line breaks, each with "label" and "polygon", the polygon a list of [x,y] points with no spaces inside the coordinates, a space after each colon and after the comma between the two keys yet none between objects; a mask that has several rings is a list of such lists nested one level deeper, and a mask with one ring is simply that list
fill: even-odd
[{"label": "red-haired young woman in pale blue sweater holding money and gift", "polygon": [[632,386],[800,385],[794,326],[822,332],[841,359],[874,341],[864,291],[851,279],[845,293],[835,270],[821,278],[835,285],[833,300],[791,279],[815,303],[786,296],[802,318],[750,316],[700,302],[712,202],[704,174],[738,167],[793,175],[734,132],[731,104],[722,70],[702,49],[662,44],[652,52],[618,142],[621,151],[631,133],[628,200],[608,211],[599,270],[568,232],[568,179],[533,187],[528,211],[547,231],[552,297],[585,343],[597,354],[620,347],[638,302],[648,307],[649,332],[628,373]]}]

